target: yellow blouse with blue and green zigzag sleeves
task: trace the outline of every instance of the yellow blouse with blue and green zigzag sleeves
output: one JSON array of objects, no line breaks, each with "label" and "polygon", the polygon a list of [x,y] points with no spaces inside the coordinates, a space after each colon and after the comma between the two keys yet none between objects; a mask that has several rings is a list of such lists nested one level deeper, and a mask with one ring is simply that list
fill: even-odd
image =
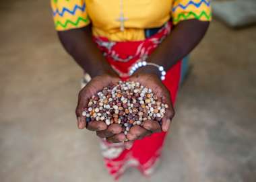
[{"label": "yellow blouse with blue and green zigzag sleeves", "polygon": [[[113,41],[144,40],[144,29],[158,28],[170,18],[173,24],[185,19],[212,19],[210,0],[51,0],[51,7],[57,31],[92,22],[94,36]],[[121,13],[125,17],[123,31]]]}]

